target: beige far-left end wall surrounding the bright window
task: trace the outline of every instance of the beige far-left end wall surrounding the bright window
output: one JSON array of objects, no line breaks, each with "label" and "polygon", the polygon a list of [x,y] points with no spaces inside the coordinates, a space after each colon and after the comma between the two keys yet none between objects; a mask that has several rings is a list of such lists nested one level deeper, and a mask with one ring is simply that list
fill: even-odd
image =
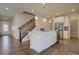
[{"label": "beige far-left end wall surrounding the bright window", "polygon": [[11,21],[0,21],[0,35],[11,35]]}]

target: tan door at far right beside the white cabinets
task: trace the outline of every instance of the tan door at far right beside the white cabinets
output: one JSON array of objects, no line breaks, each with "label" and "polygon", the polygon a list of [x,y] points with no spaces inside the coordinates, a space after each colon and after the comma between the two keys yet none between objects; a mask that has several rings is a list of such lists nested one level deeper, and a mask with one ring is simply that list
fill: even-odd
[{"label": "tan door at far right beside the white cabinets", "polygon": [[70,20],[70,37],[78,39],[78,19]]}]

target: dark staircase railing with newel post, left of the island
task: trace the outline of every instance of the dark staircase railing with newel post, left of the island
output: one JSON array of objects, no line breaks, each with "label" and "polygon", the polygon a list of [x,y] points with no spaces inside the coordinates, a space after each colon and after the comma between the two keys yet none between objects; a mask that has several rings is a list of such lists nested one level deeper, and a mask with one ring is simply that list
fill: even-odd
[{"label": "dark staircase railing with newel post, left of the island", "polygon": [[19,41],[22,42],[22,39],[29,33],[29,31],[35,28],[35,17],[20,26],[19,29]]}]

